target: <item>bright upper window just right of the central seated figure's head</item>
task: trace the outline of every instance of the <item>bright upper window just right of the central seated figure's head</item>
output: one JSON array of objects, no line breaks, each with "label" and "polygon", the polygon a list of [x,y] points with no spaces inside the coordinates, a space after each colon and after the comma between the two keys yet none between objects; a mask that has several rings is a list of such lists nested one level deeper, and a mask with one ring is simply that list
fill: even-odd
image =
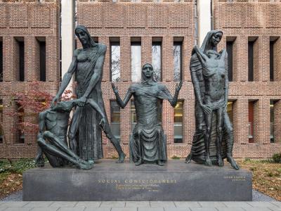
[{"label": "bright upper window just right of the central seated figure's head", "polygon": [[161,81],[162,41],[152,41],[152,67],[155,72],[155,79],[157,79],[157,81]]}]

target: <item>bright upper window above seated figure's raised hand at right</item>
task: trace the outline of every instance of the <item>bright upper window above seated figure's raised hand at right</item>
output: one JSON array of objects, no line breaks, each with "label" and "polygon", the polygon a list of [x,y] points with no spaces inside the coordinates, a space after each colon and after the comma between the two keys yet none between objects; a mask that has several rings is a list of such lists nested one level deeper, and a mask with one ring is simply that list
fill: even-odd
[{"label": "bright upper window above seated figure's raised hand at right", "polygon": [[183,41],[174,41],[174,81],[179,82],[182,80],[182,50]]}]

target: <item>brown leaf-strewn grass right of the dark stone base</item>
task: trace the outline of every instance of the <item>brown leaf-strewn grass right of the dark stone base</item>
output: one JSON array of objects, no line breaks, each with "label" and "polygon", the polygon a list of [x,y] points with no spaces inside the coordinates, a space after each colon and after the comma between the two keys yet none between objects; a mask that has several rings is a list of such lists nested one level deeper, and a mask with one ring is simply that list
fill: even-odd
[{"label": "brown leaf-strewn grass right of the dark stone base", "polygon": [[272,160],[238,160],[240,167],[253,172],[253,188],[281,200],[281,163]]}]

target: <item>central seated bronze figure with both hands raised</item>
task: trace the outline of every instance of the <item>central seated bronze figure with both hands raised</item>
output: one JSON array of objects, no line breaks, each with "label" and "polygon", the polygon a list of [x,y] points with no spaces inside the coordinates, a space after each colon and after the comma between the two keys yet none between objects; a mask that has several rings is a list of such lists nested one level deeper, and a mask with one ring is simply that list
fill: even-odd
[{"label": "central seated bronze figure with both hands raised", "polygon": [[166,136],[162,128],[162,101],[167,99],[175,107],[182,82],[176,86],[174,98],[164,84],[158,83],[153,78],[153,68],[150,64],[143,65],[141,83],[131,84],[124,101],[119,96],[119,91],[114,84],[117,103],[125,108],[131,96],[136,106],[136,126],[130,138],[130,159],[135,165],[143,162],[157,162],[164,165],[166,161]]}]

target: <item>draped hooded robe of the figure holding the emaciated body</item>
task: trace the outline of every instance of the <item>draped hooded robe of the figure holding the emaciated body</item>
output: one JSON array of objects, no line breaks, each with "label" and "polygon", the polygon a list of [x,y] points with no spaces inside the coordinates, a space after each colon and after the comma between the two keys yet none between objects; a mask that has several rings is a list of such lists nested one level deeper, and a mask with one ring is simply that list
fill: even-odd
[{"label": "draped hooded robe of the figure holding the emaciated body", "polygon": [[[211,49],[209,40],[211,39],[211,35],[214,34],[216,31],[211,31],[205,37],[204,42],[202,44],[202,51],[206,52],[207,50]],[[227,60],[226,60],[226,71],[227,71]],[[190,72],[195,72],[196,77],[200,87],[200,96],[204,99],[206,90],[204,84],[204,75],[203,75],[203,67],[202,63],[200,62],[199,58],[195,51],[192,51],[192,57],[190,58]],[[213,113],[212,117],[212,130],[211,130],[211,142],[209,146],[210,158],[211,161],[215,164],[217,162],[216,158],[216,137],[217,129],[216,129],[216,115]],[[200,107],[198,99],[195,95],[195,134],[193,136],[192,141],[192,148],[190,155],[192,160],[195,162],[204,163],[206,160],[206,151],[204,146],[204,133],[206,133],[206,124],[204,120],[204,112]],[[232,155],[233,151],[233,127],[230,123],[230,119],[228,117],[228,113],[225,113],[223,116],[223,141],[221,147],[221,155],[223,158],[226,158],[227,153]]]}]

